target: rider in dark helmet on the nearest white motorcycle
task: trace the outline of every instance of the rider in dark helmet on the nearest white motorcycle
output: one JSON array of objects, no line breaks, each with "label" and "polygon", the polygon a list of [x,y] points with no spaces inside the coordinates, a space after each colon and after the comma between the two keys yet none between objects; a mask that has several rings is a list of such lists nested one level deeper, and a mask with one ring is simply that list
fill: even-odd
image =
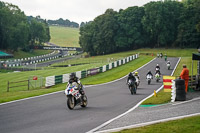
[{"label": "rider in dark helmet on the nearest white motorcycle", "polygon": [[71,73],[69,76],[69,83],[76,82],[78,84],[78,89],[81,95],[84,95],[85,92],[83,90],[83,85],[81,84],[81,81],[79,80],[78,77],[76,77],[75,73]]}]

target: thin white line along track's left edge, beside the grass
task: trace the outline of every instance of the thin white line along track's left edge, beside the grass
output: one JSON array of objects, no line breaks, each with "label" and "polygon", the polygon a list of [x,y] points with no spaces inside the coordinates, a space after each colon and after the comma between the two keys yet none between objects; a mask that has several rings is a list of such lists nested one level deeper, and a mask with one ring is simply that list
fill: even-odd
[{"label": "thin white line along track's left edge, beside the grass", "polygon": [[[155,60],[156,58],[154,58],[153,60]],[[150,62],[152,62],[153,60],[151,60]],[[148,62],[147,64],[149,64],[150,62]],[[141,66],[140,68],[136,69],[135,71],[141,69],[142,67],[146,66],[147,64]],[[93,86],[99,86],[99,85],[105,85],[105,84],[109,84],[109,83],[113,83],[113,82],[117,82],[123,78],[125,78],[126,76],[120,78],[120,79],[117,79],[117,80],[114,80],[114,81],[111,81],[111,82],[107,82],[107,83],[103,83],[103,84],[98,84],[98,85],[89,85],[89,86],[85,86],[85,87],[93,87]],[[57,91],[57,92],[52,92],[52,93],[48,93],[48,94],[44,94],[44,95],[40,95],[40,96],[33,96],[33,97],[29,97],[29,98],[24,98],[24,99],[19,99],[19,100],[14,100],[14,101],[10,101],[10,102],[5,102],[5,103],[0,103],[0,106],[1,105],[6,105],[6,104],[10,104],[10,103],[15,103],[15,102],[20,102],[20,101],[24,101],[24,100],[29,100],[29,99],[33,99],[33,98],[39,98],[39,97],[43,97],[43,96],[48,96],[48,95],[52,95],[52,94],[57,94],[57,93],[60,93],[60,92],[63,92],[64,90],[62,91]]]}]

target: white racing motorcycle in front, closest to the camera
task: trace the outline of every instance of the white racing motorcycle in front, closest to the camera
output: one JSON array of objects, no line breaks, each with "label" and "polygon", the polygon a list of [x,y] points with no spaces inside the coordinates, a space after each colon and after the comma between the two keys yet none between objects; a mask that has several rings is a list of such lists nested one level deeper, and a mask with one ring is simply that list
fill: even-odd
[{"label": "white racing motorcycle in front, closest to the camera", "polygon": [[85,94],[81,95],[77,83],[68,83],[67,88],[65,89],[65,95],[67,96],[67,107],[70,110],[74,109],[74,107],[78,105],[81,107],[87,106],[87,96]]}]

